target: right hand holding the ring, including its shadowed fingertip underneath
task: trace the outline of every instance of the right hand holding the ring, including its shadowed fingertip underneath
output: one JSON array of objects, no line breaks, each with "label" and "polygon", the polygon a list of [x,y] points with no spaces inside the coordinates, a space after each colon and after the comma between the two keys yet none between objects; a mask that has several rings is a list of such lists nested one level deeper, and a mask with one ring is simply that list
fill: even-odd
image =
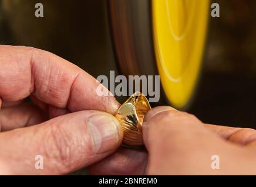
[{"label": "right hand holding the ring, including its shadowed fingertip underneath", "polygon": [[[116,153],[92,165],[90,173],[256,174],[254,129],[204,124],[193,115],[160,106],[145,116],[143,138],[147,151],[119,148]],[[213,155],[220,158],[220,169],[211,168]]]}]

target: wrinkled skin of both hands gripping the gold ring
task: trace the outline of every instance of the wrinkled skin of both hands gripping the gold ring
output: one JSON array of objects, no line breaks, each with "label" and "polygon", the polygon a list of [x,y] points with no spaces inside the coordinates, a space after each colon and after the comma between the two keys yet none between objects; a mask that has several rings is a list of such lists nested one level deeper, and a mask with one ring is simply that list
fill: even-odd
[{"label": "wrinkled skin of both hands gripping the gold ring", "polygon": [[[0,174],[256,174],[254,129],[204,124],[169,106],[144,118],[146,149],[120,147],[120,104],[99,82],[32,47],[0,46]],[[31,102],[25,102],[25,98]],[[107,119],[107,120],[106,120]],[[43,169],[35,168],[42,155]],[[212,155],[220,169],[212,169]]]}]

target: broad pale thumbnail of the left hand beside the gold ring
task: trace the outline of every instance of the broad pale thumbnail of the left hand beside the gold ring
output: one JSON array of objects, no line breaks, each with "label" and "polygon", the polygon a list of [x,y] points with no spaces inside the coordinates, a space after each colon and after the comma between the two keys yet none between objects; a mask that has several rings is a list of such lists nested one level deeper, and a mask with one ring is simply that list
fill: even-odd
[{"label": "broad pale thumbnail of the left hand beside the gold ring", "polygon": [[118,122],[106,114],[90,116],[87,120],[93,138],[94,151],[97,154],[116,148],[119,140]]}]

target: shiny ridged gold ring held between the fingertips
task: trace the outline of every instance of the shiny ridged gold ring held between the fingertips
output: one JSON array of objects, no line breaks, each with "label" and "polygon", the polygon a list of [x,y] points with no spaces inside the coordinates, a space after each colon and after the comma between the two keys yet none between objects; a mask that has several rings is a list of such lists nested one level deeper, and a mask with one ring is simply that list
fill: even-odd
[{"label": "shiny ridged gold ring held between the fingertips", "polygon": [[149,101],[143,93],[136,92],[123,103],[114,115],[123,128],[123,144],[142,146],[142,124],[144,115],[151,109]]}]

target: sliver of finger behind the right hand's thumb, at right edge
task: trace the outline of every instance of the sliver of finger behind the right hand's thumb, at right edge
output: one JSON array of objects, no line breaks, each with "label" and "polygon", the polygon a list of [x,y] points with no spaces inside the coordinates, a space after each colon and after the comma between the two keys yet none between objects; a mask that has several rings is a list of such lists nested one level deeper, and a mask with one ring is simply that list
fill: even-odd
[{"label": "sliver of finger behind the right hand's thumb, at right edge", "polygon": [[213,130],[225,140],[231,141],[233,143],[245,146],[247,144],[253,143],[256,140],[255,129],[218,126],[213,124],[205,124],[205,126]]}]

